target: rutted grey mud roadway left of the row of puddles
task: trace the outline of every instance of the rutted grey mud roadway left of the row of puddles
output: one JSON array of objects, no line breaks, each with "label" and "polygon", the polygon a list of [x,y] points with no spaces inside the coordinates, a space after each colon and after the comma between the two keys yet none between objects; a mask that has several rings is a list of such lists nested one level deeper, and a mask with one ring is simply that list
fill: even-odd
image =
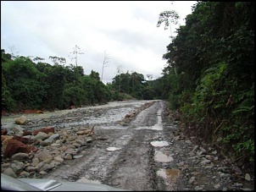
[{"label": "rutted grey mud roadway left of the row of puddles", "polygon": [[159,190],[155,150],[150,142],[163,135],[164,106],[162,101],[147,106],[125,126],[116,123],[111,129],[104,129],[103,124],[98,124],[95,135],[99,137],[81,151],[82,156],[44,178],[108,184],[120,189]]}]

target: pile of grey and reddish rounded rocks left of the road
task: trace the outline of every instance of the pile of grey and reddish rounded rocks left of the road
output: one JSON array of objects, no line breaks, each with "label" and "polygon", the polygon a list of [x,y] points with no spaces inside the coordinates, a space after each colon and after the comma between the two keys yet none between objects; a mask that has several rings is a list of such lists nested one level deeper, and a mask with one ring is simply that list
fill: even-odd
[{"label": "pile of grey and reddish rounded rocks left of the road", "polygon": [[[16,124],[25,124],[15,119]],[[64,161],[81,157],[80,151],[94,140],[90,124],[73,129],[45,127],[28,131],[20,126],[2,129],[1,172],[14,178],[40,178]]]}]

